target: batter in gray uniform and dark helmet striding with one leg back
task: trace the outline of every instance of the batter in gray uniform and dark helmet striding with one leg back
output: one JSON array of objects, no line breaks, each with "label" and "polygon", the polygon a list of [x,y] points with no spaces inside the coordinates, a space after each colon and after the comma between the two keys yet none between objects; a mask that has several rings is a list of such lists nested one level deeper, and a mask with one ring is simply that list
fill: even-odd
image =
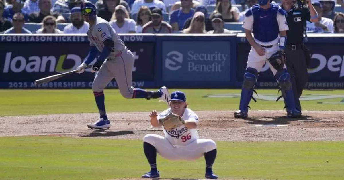
[{"label": "batter in gray uniform and dark helmet striding with one leg back", "polygon": [[83,19],[90,24],[87,36],[90,42],[90,50],[83,61],[77,67],[78,73],[84,72],[84,68],[90,64],[100,52],[97,61],[92,65],[92,71],[96,72],[92,90],[98,106],[100,118],[94,124],[88,124],[89,128],[109,128],[110,121],[105,111],[104,88],[112,79],[116,79],[119,92],[124,98],[158,99],[168,102],[168,89],[162,87],[157,91],[146,91],[132,87],[132,67],[134,55],[112,29],[109,22],[96,16],[96,7],[89,1],[81,4]]}]

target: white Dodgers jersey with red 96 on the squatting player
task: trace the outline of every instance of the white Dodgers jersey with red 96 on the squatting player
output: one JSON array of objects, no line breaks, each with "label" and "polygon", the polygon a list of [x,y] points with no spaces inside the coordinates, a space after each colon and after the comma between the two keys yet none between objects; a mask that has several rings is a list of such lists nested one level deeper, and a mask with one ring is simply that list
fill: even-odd
[{"label": "white Dodgers jersey with red 96 on the squatting player", "polygon": [[[172,112],[171,108],[163,111],[162,113],[158,115],[157,119],[158,120],[161,119],[162,117],[169,114],[170,112]],[[193,112],[189,108],[185,109],[182,118],[184,120],[192,120],[196,124],[198,124],[198,116],[196,115],[195,112]],[[171,131],[166,131],[165,128],[163,128],[163,132],[165,134],[166,139],[168,139],[171,144],[177,145],[177,146],[188,145],[192,143],[194,140],[200,138],[198,136],[196,129],[189,129],[186,126],[177,127]]]}]

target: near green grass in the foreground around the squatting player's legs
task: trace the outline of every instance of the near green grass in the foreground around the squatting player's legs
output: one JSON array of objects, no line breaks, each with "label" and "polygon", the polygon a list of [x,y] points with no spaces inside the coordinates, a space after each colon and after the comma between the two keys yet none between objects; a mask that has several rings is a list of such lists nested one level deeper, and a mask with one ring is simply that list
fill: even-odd
[{"label": "near green grass in the foreground around the squatting player's legs", "polygon": [[[101,180],[140,177],[149,170],[139,140],[7,137],[0,139],[1,180]],[[221,179],[339,180],[343,142],[217,142]],[[161,178],[204,179],[204,159],[167,161]]]}]

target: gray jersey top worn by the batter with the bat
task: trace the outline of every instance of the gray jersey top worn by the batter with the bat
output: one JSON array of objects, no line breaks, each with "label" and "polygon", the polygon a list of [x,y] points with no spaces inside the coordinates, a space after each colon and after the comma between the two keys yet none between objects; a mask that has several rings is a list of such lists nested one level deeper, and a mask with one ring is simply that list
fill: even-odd
[{"label": "gray jersey top worn by the batter with the bat", "polygon": [[96,46],[97,49],[102,52],[104,47],[104,41],[111,38],[114,41],[114,52],[111,52],[107,58],[113,58],[118,52],[126,48],[124,42],[120,39],[116,31],[110,26],[109,22],[103,18],[97,19],[93,26],[87,31],[87,36],[90,46]]}]

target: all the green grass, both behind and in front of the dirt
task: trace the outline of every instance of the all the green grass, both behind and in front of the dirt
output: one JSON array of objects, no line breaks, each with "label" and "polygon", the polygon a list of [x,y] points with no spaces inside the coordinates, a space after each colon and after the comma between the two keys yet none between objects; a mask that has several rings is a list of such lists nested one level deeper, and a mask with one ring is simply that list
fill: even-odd
[{"label": "all the green grass, both behind and in front of the dirt", "polygon": [[[173,89],[170,92],[174,91]],[[203,98],[240,90],[182,89],[193,110],[236,110],[239,98]],[[277,94],[277,90],[257,90]],[[97,112],[91,90],[0,90],[0,116]],[[342,94],[344,91],[304,91]],[[164,110],[157,100],[127,100],[117,89],[105,90],[108,112]],[[302,101],[304,110],[343,110],[343,98]],[[251,101],[252,110],[282,110],[283,102]],[[6,117],[0,117],[6,121]],[[49,120],[48,120],[49,121]],[[213,167],[220,179],[340,180],[344,142],[217,141]],[[101,180],[139,178],[149,170],[141,140],[52,136],[0,137],[0,180]],[[158,156],[161,178],[204,179],[204,159],[168,161]]]}]

